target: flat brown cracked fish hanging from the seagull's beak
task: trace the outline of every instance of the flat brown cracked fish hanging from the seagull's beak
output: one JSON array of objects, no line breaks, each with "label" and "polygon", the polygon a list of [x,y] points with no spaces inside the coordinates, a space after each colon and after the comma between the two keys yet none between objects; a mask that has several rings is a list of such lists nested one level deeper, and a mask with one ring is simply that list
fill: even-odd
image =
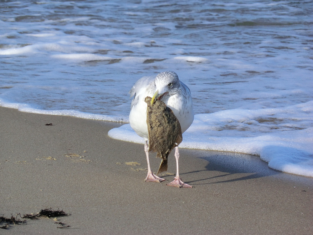
[{"label": "flat brown cracked fish hanging from the seagull's beak", "polygon": [[[182,142],[182,129],[173,111],[160,100],[146,97],[149,151],[162,158],[158,172],[167,171],[167,157]],[[151,104],[152,103],[152,104]]]}]

